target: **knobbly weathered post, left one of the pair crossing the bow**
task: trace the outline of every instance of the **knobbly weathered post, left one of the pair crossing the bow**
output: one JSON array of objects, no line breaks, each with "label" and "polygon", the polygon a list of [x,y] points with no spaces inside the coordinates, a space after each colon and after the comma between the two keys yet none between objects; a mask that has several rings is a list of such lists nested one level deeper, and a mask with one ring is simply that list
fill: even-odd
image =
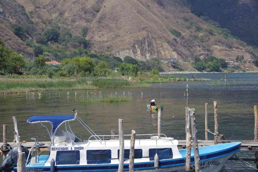
[{"label": "knobbly weathered post, left one of the pair crossing the bow", "polygon": [[186,134],[186,158],[185,158],[185,169],[191,169],[191,133],[190,133],[190,108],[185,108],[185,134]]}]

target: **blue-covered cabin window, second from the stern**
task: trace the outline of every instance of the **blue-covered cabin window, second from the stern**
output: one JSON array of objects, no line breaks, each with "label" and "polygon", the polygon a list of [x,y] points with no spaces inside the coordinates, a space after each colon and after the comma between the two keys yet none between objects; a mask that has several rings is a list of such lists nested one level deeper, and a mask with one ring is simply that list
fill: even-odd
[{"label": "blue-covered cabin window, second from the stern", "polygon": [[87,150],[87,164],[111,163],[111,150]]}]

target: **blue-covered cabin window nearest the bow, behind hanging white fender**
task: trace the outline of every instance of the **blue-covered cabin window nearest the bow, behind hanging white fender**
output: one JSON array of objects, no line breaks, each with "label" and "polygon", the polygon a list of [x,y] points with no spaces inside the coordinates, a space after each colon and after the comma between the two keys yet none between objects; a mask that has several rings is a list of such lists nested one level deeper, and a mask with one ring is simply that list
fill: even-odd
[{"label": "blue-covered cabin window nearest the bow, behind hanging white fender", "polygon": [[150,161],[154,160],[154,156],[156,152],[159,155],[159,160],[173,158],[173,153],[171,148],[157,148],[157,149],[154,148],[154,149],[149,149]]}]

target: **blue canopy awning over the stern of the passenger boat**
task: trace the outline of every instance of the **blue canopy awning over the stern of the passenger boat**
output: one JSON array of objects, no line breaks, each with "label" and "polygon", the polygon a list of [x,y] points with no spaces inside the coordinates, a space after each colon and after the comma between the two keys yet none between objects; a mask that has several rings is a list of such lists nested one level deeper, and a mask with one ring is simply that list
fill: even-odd
[{"label": "blue canopy awning over the stern of the passenger boat", "polygon": [[27,123],[37,123],[37,122],[50,122],[53,126],[52,132],[55,132],[56,129],[62,122],[72,121],[75,119],[74,114],[69,115],[44,115],[44,116],[32,116],[27,119]]}]

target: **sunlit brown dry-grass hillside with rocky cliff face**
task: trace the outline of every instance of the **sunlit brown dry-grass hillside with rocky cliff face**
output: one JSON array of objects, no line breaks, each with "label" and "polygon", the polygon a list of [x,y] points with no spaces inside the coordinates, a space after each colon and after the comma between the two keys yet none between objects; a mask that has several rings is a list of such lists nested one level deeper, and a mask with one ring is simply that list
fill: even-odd
[{"label": "sunlit brown dry-grass hillside with rocky cliff face", "polygon": [[[158,57],[185,62],[192,61],[196,56],[214,55],[225,59],[237,55],[244,55],[246,59],[251,57],[251,49],[243,41],[224,38],[215,26],[192,14],[181,0],[17,2],[25,7],[40,32],[58,24],[68,27],[73,35],[80,35],[80,29],[88,27],[86,38],[90,40],[93,53],[112,53],[122,59],[129,55],[139,60]],[[5,13],[10,12],[5,10]],[[12,18],[6,17],[6,21],[1,22],[1,28],[8,27],[6,23],[14,23]],[[12,34],[10,29],[6,33]],[[4,40],[7,40],[6,33],[4,31],[0,35]],[[11,40],[7,45],[15,51],[18,51],[15,46],[24,45],[21,40],[17,41],[15,35]]]}]

